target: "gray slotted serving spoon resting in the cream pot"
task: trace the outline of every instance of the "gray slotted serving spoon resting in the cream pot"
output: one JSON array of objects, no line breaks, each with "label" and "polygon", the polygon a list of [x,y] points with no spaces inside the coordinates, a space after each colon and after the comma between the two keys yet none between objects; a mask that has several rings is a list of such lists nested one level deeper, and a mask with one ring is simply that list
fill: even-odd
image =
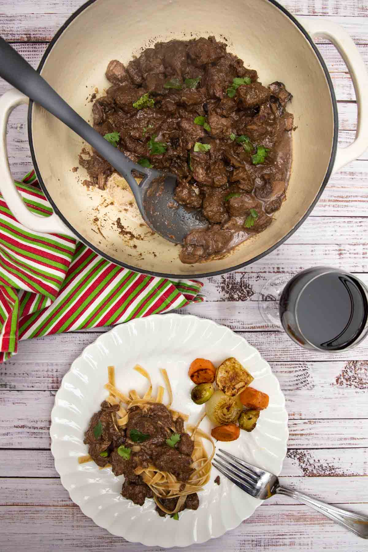
[{"label": "gray slotted serving spoon resting in the cream pot", "polygon": [[[86,123],[1,37],[0,76],[86,140],[125,178],[134,194],[143,220],[152,230],[166,240],[182,243],[183,238],[191,230],[208,225],[201,211],[186,208],[174,200],[173,194],[177,184],[177,177],[174,174],[162,173],[132,162]],[[132,176],[132,170],[145,175],[140,184]],[[155,180],[159,177],[161,177],[159,181]]]}]

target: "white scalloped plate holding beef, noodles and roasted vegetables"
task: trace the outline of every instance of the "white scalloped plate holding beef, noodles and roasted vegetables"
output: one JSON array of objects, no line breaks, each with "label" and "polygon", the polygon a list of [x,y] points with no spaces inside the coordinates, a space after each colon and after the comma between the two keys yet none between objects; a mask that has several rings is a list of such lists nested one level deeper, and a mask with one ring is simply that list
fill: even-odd
[{"label": "white scalloped plate holding beef, noodles and roasted vegetables", "polygon": [[[161,518],[154,503],[137,506],[120,495],[123,476],[110,469],[99,470],[93,463],[79,465],[87,454],[83,436],[89,418],[108,395],[103,386],[107,367],[115,365],[116,385],[122,391],[144,392],[147,381],[133,367],[141,364],[151,374],[155,387],[162,384],[160,368],[166,368],[173,388],[173,408],[190,414],[195,423],[204,410],[190,399],[193,388],[188,367],[203,357],[218,365],[236,357],[254,376],[252,385],[270,396],[252,433],[241,431],[234,442],[221,447],[261,468],[279,474],[286,454],[287,412],[284,395],[270,365],[241,336],[225,326],[189,315],[153,315],[116,326],[103,333],[74,360],[64,376],[51,412],[51,452],[62,485],[82,512],[100,527],[130,542],[148,546],[188,546],[220,537],[252,515],[260,501],[242,492],[212,468],[211,480],[200,493],[198,510],[180,513],[179,522]],[[167,394],[164,402],[167,402]],[[205,418],[201,428],[210,430]],[[220,443],[219,443],[220,444]]]}]

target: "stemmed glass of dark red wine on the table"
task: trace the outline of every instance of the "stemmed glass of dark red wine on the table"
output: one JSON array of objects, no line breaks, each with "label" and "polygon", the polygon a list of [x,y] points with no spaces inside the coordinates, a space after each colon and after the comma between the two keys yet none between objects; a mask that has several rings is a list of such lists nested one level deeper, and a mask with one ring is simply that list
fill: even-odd
[{"label": "stemmed glass of dark red wine on the table", "polygon": [[308,349],[334,352],[355,347],[368,333],[368,289],[349,272],[314,267],[280,274],[262,290],[267,322]]}]

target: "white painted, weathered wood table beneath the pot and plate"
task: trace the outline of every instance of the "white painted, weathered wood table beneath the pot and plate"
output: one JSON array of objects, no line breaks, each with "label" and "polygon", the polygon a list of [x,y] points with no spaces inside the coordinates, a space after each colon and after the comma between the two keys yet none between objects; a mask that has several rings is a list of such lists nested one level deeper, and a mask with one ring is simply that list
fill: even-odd
[{"label": "white painted, weathered wood table beneath the pot and plate", "polygon": [[[0,0],[0,34],[33,66],[81,0]],[[368,4],[362,0],[284,0],[296,15],[342,25],[368,65]],[[356,103],[347,68],[334,47],[317,41],[339,108],[340,144],[353,139]],[[9,88],[0,82],[0,93]],[[31,168],[25,108],[8,133],[15,178]],[[269,256],[244,270],[204,280],[206,302],[186,309],[240,332],[269,360],[286,396],[289,450],[282,484],[351,511],[368,514],[368,339],[335,355],[307,352],[260,320],[263,283],[279,272],[327,264],[368,283],[368,152],[335,174],[305,224]],[[50,452],[50,412],[62,376],[98,332],[66,333],[22,342],[0,366],[0,549],[19,552],[100,550],[138,552],[95,526],[63,489]],[[272,498],[231,533],[195,547],[217,552],[340,550],[368,543],[290,498]],[[158,550],[158,549],[157,549]]]}]

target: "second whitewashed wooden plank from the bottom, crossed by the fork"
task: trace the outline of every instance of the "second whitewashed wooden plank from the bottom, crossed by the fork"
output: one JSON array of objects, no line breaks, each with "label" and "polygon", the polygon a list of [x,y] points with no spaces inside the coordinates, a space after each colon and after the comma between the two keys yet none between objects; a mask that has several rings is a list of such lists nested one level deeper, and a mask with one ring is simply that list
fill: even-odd
[{"label": "second whitewashed wooden plank from the bottom, crossed by the fork", "polygon": [[[304,492],[329,504],[367,502],[364,477],[280,477],[280,484],[289,489]],[[210,482],[209,485],[213,485]],[[28,477],[0,478],[1,506],[77,506],[62,486],[60,479],[28,479]],[[336,490],[338,489],[338,492]],[[278,495],[263,506],[290,506],[298,504],[295,498]]]}]

